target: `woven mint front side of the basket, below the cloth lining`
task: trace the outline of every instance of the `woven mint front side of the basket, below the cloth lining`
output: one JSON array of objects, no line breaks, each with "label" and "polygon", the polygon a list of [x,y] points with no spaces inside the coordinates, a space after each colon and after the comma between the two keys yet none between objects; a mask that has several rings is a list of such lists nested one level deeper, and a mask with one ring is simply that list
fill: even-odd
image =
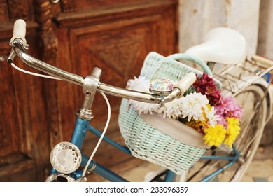
[{"label": "woven mint front side of the basket, below the cloth lining", "polygon": [[134,157],[153,162],[179,174],[192,167],[206,151],[205,148],[183,144],[148,125],[132,106],[127,111],[127,104],[128,100],[123,99],[119,124],[125,144]]}]

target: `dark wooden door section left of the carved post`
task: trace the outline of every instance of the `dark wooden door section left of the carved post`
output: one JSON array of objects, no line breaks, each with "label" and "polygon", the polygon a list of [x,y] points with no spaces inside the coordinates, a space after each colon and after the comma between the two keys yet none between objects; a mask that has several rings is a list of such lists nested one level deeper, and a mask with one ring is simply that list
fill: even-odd
[{"label": "dark wooden door section left of the carved post", "polygon": [[[49,167],[43,80],[20,73],[6,62],[13,22],[18,18],[27,20],[29,53],[38,57],[38,23],[31,3],[0,1],[0,181],[41,181]],[[14,62],[31,70],[18,59]]]}]

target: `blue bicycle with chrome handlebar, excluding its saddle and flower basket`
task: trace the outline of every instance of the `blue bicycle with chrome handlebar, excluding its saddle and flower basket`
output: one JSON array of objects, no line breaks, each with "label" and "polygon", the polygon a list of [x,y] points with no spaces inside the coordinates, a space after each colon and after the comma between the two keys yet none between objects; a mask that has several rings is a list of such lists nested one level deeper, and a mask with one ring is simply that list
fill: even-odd
[{"label": "blue bicycle with chrome handlebar, excluding its saddle and flower basket", "polygon": [[[147,102],[147,103],[153,103],[153,104],[164,104],[167,102],[172,102],[174,99],[178,97],[183,97],[184,92],[186,92],[190,86],[193,85],[193,83],[196,80],[195,73],[200,73],[195,69],[189,69],[190,71],[193,71],[194,73],[188,73],[186,74],[181,80],[179,80],[179,83],[175,86],[172,86],[172,83],[170,84],[169,81],[166,80],[160,80],[159,83],[162,83],[162,85],[167,85],[168,87],[162,90],[162,86],[160,86],[160,90],[158,88],[151,88],[151,92],[140,92],[136,90],[130,90],[120,87],[113,87],[111,85],[106,85],[104,83],[101,83],[99,81],[99,76],[102,74],[102,70],[99,68],[94,68],[93,72],[90,76],[86,76],[83,78],[82,76],[77,76],[72,73],[68,73],[64,70],[57,69],[56,67],[46,64],[45,62],[41,62],[38,59],[35,59],[34,57],[31,57],[27,54],[26,50],[28,49],[27,41],[25,40],[25,21],[18,20],[15,22],[15,27],[13,31],[13,38],[10,40],[10,45],[13,47],[10,55],[8,57],[8,62],[15,67],[15,64],[13,64],[13,59],[15,56],[18,56],[23,62],[28,64],[29,66],[34,67],[35,69],[38,69],[39,71],[42,71],[44,73],[48,73],[50,76],[45,76],[38,74],[38,76],[46,77],[46,78],[54,78],[54,79],[60,79],[60,80],[66,80],[70,83],[80,85],[83,87],[83,92],[85,94],[85,99],[83,102],[83,106],[81,109],[76,111],[76,125],[73,130],[73,134],[71,135],[71,141],[70,142],[61,142],[55,146],[54,149],[52,149],[52,152],[50,153],[50,161],[52,162],[52,174],[46,179],[46,181],[86,181],[85,174],[88,172],[94,172],[96,174],[99,174],[100,176],[104,177],[104,179],[107,179],[109,181],[127,181],[126,179],[123,179],[122,176],[119,176],[118,174],[115,174],[111,172],[111,170],[103,167],[102,165],[99,165],[99,163],[92,160],[94,157],[94,153],[97,151],[97,148],[99,147],[99,144],[102,140],[106,141],[107,143],[111,144],[115,148],[118,148],[118,150],[123,151],[124,153],[127,153],[129,155],[132,155],[134,153],[134,156],[137,155],[136,152],[133,152],[130,148],[127,146],[121,146],[120,144],[117,144],[115,141],[111,140],[109,137],[106,137],[104,134],[107,130],[107,126],[109,125],[109,118],[106,122],[106,127],[104,128],[103,132],[99,132],[96,130],[92,125],[90,125],[90,120],[93,118],[92,116],[92,102],[94,99],[94,94],[96,91],[101,92],[104,99],[106,99],[106,103],[109,109],[109,116],[111,115],[111,109],[109,106],[109,102],[107,102],[107,98],[104,93],[118,96],[125,98],[123,100],[137,100],[140,102]],[[192,50],[193,51],[193,50]],[[196,52],[194,52],[196,55]],[[188,50],[188,54],[190,54],[190,50]],[[190,60],[192,62],[195,62],[197,64],[200,64],[202,68],[207,71],[208,74],[212,74],[209,67],[207,67],[204,62],[196,57],[186,54],[176,54],[172,55],[172,59],[176,59],[177,57],[186,60]],[[151,57],[152,56],[152,57]],[[152,53],[150,57],[154,60],[155,57],[162,58],[158,54]],[[203,59],[206,60],[206,59]],[[255,61],[255,63],[254,63]],[[212,64],[210,60],[209,64]],[[217,62],[217,61],[216,61]],[[260,64],[259,62],[262,62]],[[179,62],[177,62],[180,64]],[[218,62],[221,63],[221,62]],[[241,63],[241,62],[240,62]],[[235,73],[232,73],[233,67],[236,67],[236,69],[244,69],[243,73],[246,73],[246,70],[248,70],[248,73],[246,73],[244,76],[253,76],[253,69],[248,69],[249,64],[255,65],[255,68],[262,69],[263,71],[261,73],[258,73],[255,75],[255,80],[251,80],[251,82],[246,81],[246,83],[241,83],[241,81],[244,81],[244,77],[240,76],[240,78],[235,77],[235,73],[238,73],[235,71]],[[268,65],[269,64],[269,65]],[[269,71],[272,71],[273,67],[270,67],[272,62],[269,60],[260,58],[260,57],[253,57],[253,61],[249,62],[246,60],[246,63],[237,64],[236,66],[232,66],[232,69],[230,67],[227,68],[227,66],[223,66],[224,71],[220,71],[220,73],[229,73],[227,75],[225,74],[217,74],[214,73],[214,78],[218,77],[216,80],[218,81],[218,85],[221,85],[221,82],[223,80],[223,88],[226,92],[231,93],[233,96],[237,97],[238,100],[241,100],[241,102],[244,102],[244,94],[248,92],[254,93],[254,96],[252,98],[257,98],[255,100],[251,100],[248,103],[253,103],[253,107],[250,108],[252,111],[254,111],[254,115],[249,117],[246,116],[246,119],[251,119],[252,121],[249,123],[244,124],[244,121],[242,123],[242,127],[246,127],[246,129],[243,129],[243,132],[241,134],[242,137],[239,137],[237,141],[239,143],[235,143],[233,145],[232,151],[226,150],[225,148],[218,147],[213,148],[211,150],[207,150],[207,153],[211,155],[202,155],[206,149],[202,148],[200,150],[199,148],[197,151],[193,151],[195,153],[200,153],[202,156],[201,159],[207,160],[204,163],[202,162],[195,162],[199,160],[199,156],[195,158],[193,163],[188,167],[190,169],[190,172],[188,172],[188,169],[184,169],[185,172],[181,172],[183,174],[178,174],[176,171],[172,170],[166,170],[162,169],[159,172],[153,172],[151,174],[148,174],[148,181],[191,181],[200,179],[200,176],[203,176],[204,172],[205,178],[202,181],[211,181],[216,176],[219,178],[221,177],[221,173],[223,171],[228,171],[230,169],[230,166],[234,165],[235,163],[239,163],[242,160],[246,160],[246,165],[240,165],[239,172],[235,172],[237,174],[236,178],[233,178],[233,175],[228,181],[234,181],[239,180],[240,177],[244,174],[246,168],[248,167],[249,163],[251,162],[253,155],[258,148],[258,144],[260,141],[260,137],[262,135],[262,130],[265,125],[265,118],[269,118],[272,114],[269,113],[267,115],[267,106],[272,106],[272,99],[269,97],[269,93],[265,92],[262,88],[265,88],[268,90],[269,85],[268,83],[263,82],[262,76],[264,76],[266,73],[269,73]],[[242,66],[243,65],[243,66]],[[267,65],[266,67],[264,65]],[[22,70],[21,70],[22,71]],[[189,72],[190,72],[189,71]],[[232,74],[230,74],[232,73]],[[241,72],[240,72],[241,73]],[[232,80],[228,81],[228,85],[225,83],[227,80],[225,80],[225,76],[230,76]],[[234,78],[237,78],[235,80],[235,83],[230,83],[231,81],[234,82]],[[240,83],[238,83],[240,81]],[[158,81],[155,81],[155,83]],[[171,87],[171,89],[169,88]],[[232,89],[230,88],[232,87]],[[237,87],[237,88],[235,88]],[[235,88],[235,89],[234,89]],[[240,99],[239,99],[240,98]],[[248,97],[249,98],[249,97]],[[126,102],[126,101],[125,101]],[[268,102],[268,103],[267,103]],[[258,103],[258,104],[257,104]],[[126,106],[126,104],[123,104]],[[249,111],[249,110],[246,110]],[[250,112],[247,112],[250,113]],[[258,123],[256,123],[256,121]],[[132,123],[132,122],[131,122]],[[248,127],[248,125],[255,126],[258,125],[258,128],[255,127]],[[81,154],[80,149],[83,146],[83,141],[85,139],[85,134],[90,131],[92,134],[99,137],[99,141],[97,146],[95,147],[92,155],[90,158],[87,158],[87,156]],[[250,141],[244,141],[242,140],[244,137],[250,136],[250,134],[246,133],[248,131],[255,132],[253,139]],[[257,132],[257,133],[256,133]],[[249,144],[251,146],[249,146]],[[251,153],[251,156],[245,156],[243,157],[238,148],[239,144],[243,144],[242,146],[251,147],[247,149],[246,154],[248,152]],[[247,144],[247,145],[246,145]],[[253,150],[253,152],[251,152]],[[224,153],[224,155],[218,155],[219,153]],[[244,152],[243,152],[244,153]],[[194,153],[193,153],[194,154]],[[141,156],[141,155],[140,155]],[[207,174],[207,169],[215,168],[216,164],[213,163],[214,160],[226,160],[228,163],[224,162],[224,165],[221,166],[220,169],[216,169],[216,171],[211,172]],[[218,164],[219,161],[216,163]],[[202,165],[201,167],[198,165]],[[80,167],[84,167],[83,171],[78,169]],[[196,171],[194,170],[196,167],[200,167]],[[183,170],[183,169],[182,169]],[[194,174],[193,174],[194,173]],[[197,174],[198,173],[198,174]],[[193,175],[192,175],[193,174]],[[201,175],[202,174],[202,175]],[[198,176],[200,175],[200,176]],[[187,177],[187,176],[190,176]],[[227,176],[227,175],[224,175]]]}]

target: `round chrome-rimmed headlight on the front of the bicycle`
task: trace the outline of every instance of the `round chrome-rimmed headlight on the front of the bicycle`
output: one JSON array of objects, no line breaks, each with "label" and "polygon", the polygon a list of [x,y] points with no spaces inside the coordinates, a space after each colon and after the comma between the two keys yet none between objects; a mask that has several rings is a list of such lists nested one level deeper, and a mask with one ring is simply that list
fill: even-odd
[{"label": "round chrome-rimmed headlight on the front of the bicycle", "polygon": [[58,172],[70,174],[80,167],[80,150],[70,142],[60,142],[52,149],[50,162]]}]

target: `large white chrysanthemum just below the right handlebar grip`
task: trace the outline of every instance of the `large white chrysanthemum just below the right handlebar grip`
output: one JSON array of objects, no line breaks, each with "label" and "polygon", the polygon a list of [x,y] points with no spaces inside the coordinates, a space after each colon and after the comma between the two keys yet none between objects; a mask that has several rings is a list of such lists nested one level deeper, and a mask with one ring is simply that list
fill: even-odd
[{"label": "large white chrysanthemum just below the right handlebar grip", "polygon": [[181,116],[188,117],[188,122],[193,118],[194,120],[205,120],[203,116],[203,109],[207,110],[209,100],[201,93],[193,92],[181,98]]}]

